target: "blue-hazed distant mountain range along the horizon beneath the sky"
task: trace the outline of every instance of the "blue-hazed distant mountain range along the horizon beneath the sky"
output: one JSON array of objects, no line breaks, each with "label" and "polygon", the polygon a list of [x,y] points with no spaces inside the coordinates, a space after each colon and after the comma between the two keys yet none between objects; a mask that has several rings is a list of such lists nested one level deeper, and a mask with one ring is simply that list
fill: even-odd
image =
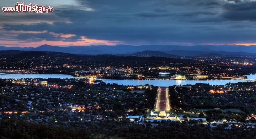
[{"label": "blue-hazed distant mountain range along the horizon beneath the sky", "polygon": [[[222,55],[255,55],[256,45],[205,45],[205,46],[179,46],[179,45],[116,45],[116,46],[51,46],[41,45],[39,47],[5,47],[0,46],[1,50],[24,50],[24,51],[53,51],[71,54],[128,54],[137,56],[200,56],[205,54],[222,54]],[[142,53],[137,53],[142,52]],[[169,56],[169,55],[173,56]]]}]

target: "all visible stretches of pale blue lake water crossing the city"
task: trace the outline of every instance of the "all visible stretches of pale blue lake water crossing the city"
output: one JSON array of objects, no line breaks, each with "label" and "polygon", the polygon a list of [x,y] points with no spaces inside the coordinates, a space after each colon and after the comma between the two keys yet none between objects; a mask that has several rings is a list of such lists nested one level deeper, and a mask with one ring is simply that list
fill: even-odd
[{"label": "all visible stretches of pale blue lake water crossing the city", "polygon": [[[2,79],[21,79],[21,78],[75,78],[67,74],[3,74],[0,73]],[[256,79],[256,75],[249,75],[248,79]],[[154,86],[172,86],[186,85],[196,83],[209,83],[210,85],[225,85],[226,83],[247,82],[245,80],[116,80],[101,79],[105,83],[117,83],[119,85],[154,85]]]}]

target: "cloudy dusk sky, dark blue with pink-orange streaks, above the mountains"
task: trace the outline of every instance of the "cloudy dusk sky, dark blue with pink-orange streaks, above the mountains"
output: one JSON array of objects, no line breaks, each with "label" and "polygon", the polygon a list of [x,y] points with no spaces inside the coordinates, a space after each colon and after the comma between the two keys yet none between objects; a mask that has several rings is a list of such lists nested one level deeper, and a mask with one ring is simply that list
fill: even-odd
[{"label": "cloudy dusk sky, dark blue with pink-orange streaks, above the mountains", "polygon": [[256,0],[5,0],[53,13],[0,12],[0,45],[256,44]]}]

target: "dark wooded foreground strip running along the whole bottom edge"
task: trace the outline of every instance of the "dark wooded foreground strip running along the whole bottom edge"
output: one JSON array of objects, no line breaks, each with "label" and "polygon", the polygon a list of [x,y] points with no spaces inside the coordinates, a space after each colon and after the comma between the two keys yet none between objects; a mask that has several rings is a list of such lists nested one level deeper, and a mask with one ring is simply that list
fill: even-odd
[{"label": "dark wooded foreground strip running along the whole bottom edge", "polygon": [[[255,128],[207,125],[191,121],[190,124],[163,122],[156,127],[150,123],[133,124],[129,120],[88,122],[87,127],[56,127],[36,124],[16,118],[0,120],[1,139],[253,139]],[[74,123],[75,124],[75,123]]]}]

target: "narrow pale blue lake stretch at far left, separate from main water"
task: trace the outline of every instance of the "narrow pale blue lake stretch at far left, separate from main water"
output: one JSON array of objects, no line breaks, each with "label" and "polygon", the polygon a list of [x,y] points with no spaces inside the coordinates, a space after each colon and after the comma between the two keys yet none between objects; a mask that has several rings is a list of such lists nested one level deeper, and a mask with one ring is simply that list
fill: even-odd
[{"label": "narrow pale blue lake stretch at far left, separate from main water", "polygon": [[0,78],[2,79],[21,79],[21,78],[75,78],[72,75],[67,74],[4,74],[0,73]]}]

